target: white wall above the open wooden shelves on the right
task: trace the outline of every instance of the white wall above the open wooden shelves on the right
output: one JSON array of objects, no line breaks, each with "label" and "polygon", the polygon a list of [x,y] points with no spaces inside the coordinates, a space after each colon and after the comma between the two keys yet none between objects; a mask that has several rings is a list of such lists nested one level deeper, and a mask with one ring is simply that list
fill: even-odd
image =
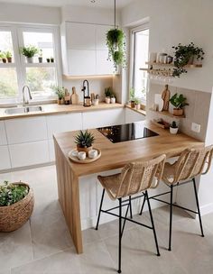
[{"label": "white wall above the open wooden shelves on the right", "polygon": [[173,45],[193,41],[206,52],[203,68],[189,69],[175,79],[174,87],[211,92],[213,80],[213,1],[138,0],[122,10],[122,26],[150,18],[150,51],[171,50]]}]

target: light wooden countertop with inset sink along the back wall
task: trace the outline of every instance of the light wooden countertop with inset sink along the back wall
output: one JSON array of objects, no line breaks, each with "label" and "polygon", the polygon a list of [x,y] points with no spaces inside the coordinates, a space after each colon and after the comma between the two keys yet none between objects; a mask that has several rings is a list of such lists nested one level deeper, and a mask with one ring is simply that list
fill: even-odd
[{"label": "light wooden countertop with inset sink along the back wall", "polygon": [[49,104],[49,105],[41,105],[41,106],[43,110],[42,112],[32,112],[32,113],[26,113],[26,114],[5,114],[6,108],[0,108],[0,120],[42,116],[42,115],[53,115],[53,114],[83,113],[83,112],[91,112],[91,111],[125,107],[125,105],[118,104],[118,103],[116,104],[99,103],[99,105],[91,105],[89,107],[86,107],[83,105],[57,105],[57,104]]}]

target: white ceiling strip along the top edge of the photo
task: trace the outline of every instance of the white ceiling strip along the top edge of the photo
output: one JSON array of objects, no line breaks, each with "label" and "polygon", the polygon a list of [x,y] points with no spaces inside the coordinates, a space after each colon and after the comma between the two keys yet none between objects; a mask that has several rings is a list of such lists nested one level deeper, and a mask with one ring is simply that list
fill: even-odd
[{"label": "white ceiling strip along the top edge of the photo", "polygon": [[[91,3],[95,1],[95,3]],[[117,9],[129,5],[135,0],[116,0]],[[62,6],[62,5],[81,5],[94,6],[102,8],[114,8],[114,0],[0,0],[0,3],[15,3],[27,5],[43,5],[43,6]]]}]

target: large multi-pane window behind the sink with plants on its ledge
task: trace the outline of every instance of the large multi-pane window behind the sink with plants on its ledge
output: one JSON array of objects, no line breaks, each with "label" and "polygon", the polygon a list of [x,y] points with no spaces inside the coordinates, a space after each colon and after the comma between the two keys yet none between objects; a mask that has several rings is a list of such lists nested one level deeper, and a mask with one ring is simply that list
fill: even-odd
[{"label": "large multi-pane window behind the sink with plants on its ledge", "polygon": [[[0,103],[22,101],[24,85],[31,88],[32,100],[55,97],[52,86],[60,82],[58,37],[56,27],[0,27]],[[28,46],[39,50],[32,63],[20,53]],[[6,51],[12,53],[11,63],[3,62]]]}]

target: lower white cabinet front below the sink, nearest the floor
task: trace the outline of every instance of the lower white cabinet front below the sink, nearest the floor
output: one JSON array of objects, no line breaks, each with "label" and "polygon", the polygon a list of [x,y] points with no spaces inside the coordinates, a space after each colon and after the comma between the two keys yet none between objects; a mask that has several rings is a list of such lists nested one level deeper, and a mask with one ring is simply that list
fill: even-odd
[{"label": "lower white cabinet front below the sink, nearest the floor", "polygon": [[47,140],[9,145],[9,151],[12,168],[50,162]]}]

